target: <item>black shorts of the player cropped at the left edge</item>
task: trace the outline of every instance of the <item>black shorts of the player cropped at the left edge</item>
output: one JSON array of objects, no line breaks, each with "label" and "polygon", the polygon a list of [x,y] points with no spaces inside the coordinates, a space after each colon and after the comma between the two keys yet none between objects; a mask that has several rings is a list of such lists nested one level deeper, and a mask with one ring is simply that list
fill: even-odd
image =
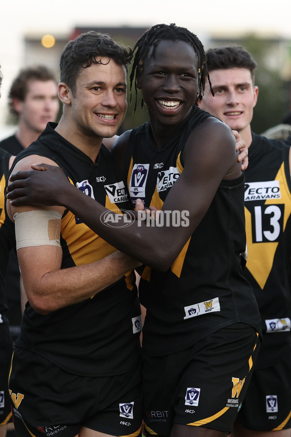
[{"label": "black shorts of the player cropped at the left edge", "polygon": [[8,375],[13,353],[12,338],[8,325],[0,323],[0,425],[12,421]]}]

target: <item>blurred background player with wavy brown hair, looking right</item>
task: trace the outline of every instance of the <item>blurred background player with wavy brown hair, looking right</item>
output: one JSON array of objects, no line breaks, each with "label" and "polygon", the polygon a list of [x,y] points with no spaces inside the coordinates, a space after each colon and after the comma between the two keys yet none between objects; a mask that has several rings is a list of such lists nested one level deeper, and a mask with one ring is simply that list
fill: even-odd
[{"label": "blurred background player with wavy brown hair, looking right", "polygon": [[[17,130],[15,134],[0,141],[0,147],[12,155],[17,155],[37,139],[48,121],[56,121],[59,99],[53,72],[42,65],[22,68],[10,87],[9,108],[17,121]],[[19,335],[26,303],[22,287],[22,294],[20,293],[21,284],[16,253],[11,251],[5,274],[5,293],[9,329],[13,340]]]}]

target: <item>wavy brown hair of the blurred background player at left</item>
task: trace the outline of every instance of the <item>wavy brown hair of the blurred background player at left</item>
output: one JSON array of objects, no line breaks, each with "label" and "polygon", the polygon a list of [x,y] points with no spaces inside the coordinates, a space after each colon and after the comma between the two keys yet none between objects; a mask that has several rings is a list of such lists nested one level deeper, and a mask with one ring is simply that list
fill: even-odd
[{"label": "wavy brown hair of the blurred background player at left", "polygon": [[10,112],[16,116],[18,116],[18,113],[14,109],[13,99],[25,100],[30,81],[54,81],[57,84],[54,73],[44,65],[22,68],[14,79],[9,91]]}]

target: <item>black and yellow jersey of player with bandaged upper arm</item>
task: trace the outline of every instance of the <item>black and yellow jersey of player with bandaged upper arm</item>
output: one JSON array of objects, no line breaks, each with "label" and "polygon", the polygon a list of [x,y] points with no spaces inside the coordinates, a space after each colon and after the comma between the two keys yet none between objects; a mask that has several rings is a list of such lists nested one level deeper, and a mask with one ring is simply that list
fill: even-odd
[{"label": "black and yellow jersey of player with bandaged upper arm", "polygon": [[[124,183],[104,145],[97,164],[54,131],[45,131],[16,161],[46,156],[64,169],[70,182],[109,209],[128,209]],[[41,162],[41,158],[39,160]],[[53,188],[52,188],[53,189]],[[62,269],[98,261],[116,251],[70,211],[61,222]],[[110,275],[110,272],[108,272]],[[107,376],[134,368],[140,358],[141,309],[134,272],[90,299],[48,315],[27,303],[16,346],[38,353],[60,368],[84,376]]]}]

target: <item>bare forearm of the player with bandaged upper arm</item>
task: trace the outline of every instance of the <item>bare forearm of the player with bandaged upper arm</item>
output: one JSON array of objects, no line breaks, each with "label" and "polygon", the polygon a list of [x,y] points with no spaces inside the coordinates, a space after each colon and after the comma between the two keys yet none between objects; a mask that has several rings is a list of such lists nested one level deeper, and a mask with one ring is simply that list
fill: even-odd
[{"label": "bare forearm of the player with bandaged upper arm", "polygon": [[50,271],[38,278],[27,270],[23,282],[35,311],[49,314],[94,296],[139,265],[127,255],[114,252],[95,263]]}]

